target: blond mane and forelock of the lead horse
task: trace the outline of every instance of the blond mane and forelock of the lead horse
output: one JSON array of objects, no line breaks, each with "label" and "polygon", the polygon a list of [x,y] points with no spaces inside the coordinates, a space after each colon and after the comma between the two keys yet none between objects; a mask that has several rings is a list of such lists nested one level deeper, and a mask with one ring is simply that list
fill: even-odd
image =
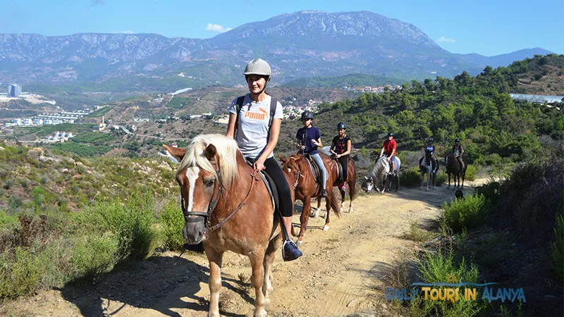
[{"label": "blond mane and forelock of the lead horse", "polygon": [[[231,185],[237,179],[237,154],[239,148],[234,139],[224,135],[198,135],[186,149],[186,154],[178,171],[193,166],[202,168],[203,170],[212,173],[215,178],[218,178],[215,168],[209,162],[204,154],[205,149],[209,144],[214,144],[219,156],[219,170],[221,170],[221,181],[224,185]],[[177,172],[178,173],[178,172]]]}]

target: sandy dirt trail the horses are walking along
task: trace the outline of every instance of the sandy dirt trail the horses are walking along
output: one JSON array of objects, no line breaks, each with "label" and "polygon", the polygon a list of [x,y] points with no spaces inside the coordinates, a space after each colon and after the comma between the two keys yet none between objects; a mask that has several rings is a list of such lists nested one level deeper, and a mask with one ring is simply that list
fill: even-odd
[{"label": "sandy dirt trail the horses are walking along", "polygon": [[[465,187],[465,194],[472,193]],[[358,312],[384,313],[382,282],[393,259],[409,253],[414,242],[399,238],[410,223],[432,223],[439,206],[450,201],[445,186],[429,192],[400,189],[355,200],[353,213],[332,217],[324,232],[324,218],[312,218],[302,246],[304,256],[274,262],[274,293],[269,316],[348,316]],[[324,214],[324,211],[321,211]],[[294,216],[299,222],[299,216]],[[107,273],[94,282],[39,292],[34,297],[4,303],[0,314],[12,316],[207,316],[207,259],[165,253],[134,267]],[[245,276],[243,276],[245,275]],[[254,290],[247,287],[250,264],[246,257],[226,253],[223,260],[222,316],[252,316]],[[247,282],[240,282],[243,280]]]}]

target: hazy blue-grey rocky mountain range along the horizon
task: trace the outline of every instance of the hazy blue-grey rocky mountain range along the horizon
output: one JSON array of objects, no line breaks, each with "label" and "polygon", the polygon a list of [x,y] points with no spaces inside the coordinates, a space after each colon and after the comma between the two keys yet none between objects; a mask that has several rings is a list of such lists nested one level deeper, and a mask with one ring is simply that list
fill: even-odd
[{"label": "hazy blue-grey rocky mountain range along the horizon", "polygon": [[[240,85],[247,61],[260,56],[273,83],[301,77],[365,73],[401,80],[475,75],[507,66],[540,48],[482,56],[452,54],[415,25],[377,13],[300,11],[247,23],[211,39],[154,34],[44,36],[0,34],[0,81],[30,83],[139,82],[182,78],[178,85]],[[137,84],[136,84],[137,82]]]}]

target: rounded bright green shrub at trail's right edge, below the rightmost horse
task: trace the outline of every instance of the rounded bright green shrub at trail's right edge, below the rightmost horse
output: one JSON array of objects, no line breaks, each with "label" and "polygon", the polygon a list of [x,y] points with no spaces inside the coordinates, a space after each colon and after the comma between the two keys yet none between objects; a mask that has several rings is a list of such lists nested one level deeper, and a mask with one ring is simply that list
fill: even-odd
[{"label": "rounded bright green shrub at trail's right edge, below the rightmost horse", "polygon": [[488,211],[484,195],[467,196],[450,204],[445,202],[441,222],[456,232],[462,228],[471,229],[485,223]]}]

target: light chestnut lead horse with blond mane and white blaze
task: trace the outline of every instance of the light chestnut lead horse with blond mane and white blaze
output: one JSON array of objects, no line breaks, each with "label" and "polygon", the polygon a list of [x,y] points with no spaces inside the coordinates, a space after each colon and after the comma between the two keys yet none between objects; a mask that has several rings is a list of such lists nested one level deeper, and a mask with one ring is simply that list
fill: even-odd
[{"label": "light chestnut lead horse with blond mane and white blaze", "polygon": [[183,237],[188,244],[203,242],[209,261],[208,316],[219,317],[221,260],[228,250],[249,256],[254,316],[266,316],[273,291],[271,265],[283,240],[266,185],[245,163],[235,140],[223,135],[199,135],[188,149],[164,147],[180,159],[176,181],[185,220]]}]

